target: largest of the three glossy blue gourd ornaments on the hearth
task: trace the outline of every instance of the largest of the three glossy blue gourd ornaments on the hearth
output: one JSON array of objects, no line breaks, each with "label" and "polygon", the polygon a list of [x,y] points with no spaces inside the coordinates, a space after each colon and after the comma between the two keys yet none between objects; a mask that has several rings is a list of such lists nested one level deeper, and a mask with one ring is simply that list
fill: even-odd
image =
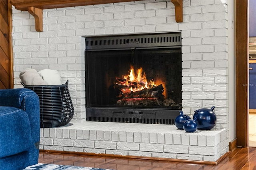
[{"label": "largest of the three glossy blue gourd ornaments on the hearth", "polygon": [[214,106],[211,109],[198,109],[194,111],[194,118],[196,119],[196,124],[198,130],[210,130],[216,125],[216,115],[214,113]]}]

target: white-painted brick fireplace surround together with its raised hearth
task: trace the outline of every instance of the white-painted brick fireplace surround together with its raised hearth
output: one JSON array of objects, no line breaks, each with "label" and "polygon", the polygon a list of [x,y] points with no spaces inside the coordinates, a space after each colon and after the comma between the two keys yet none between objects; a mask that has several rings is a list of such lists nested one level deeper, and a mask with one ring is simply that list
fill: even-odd
[{"label": "white-painted brick fireplace surround together with its raised hearth", "polygon": [[[75,114],[70,125],[41,129],[40,148],[76,152],[216,161],[235,138],[234,2],[184,0],[183,23],[170,0],[142,0],[43,10],[34,17],[13,8],[15,88],[26,68],[58,70],[69,81]],[[174,125],[86,122],[85,38],[181,32],[182,111],[215,106],[216,127],[185,133]]]}]

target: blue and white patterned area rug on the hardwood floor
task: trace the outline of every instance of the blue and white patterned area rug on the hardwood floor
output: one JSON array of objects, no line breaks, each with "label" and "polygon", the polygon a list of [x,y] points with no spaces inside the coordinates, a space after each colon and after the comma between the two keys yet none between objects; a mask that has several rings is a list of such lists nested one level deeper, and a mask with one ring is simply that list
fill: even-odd
[{"label": "blue and white patterned area rug on the hardwood floor", "polygon": [[36,165],[28,166],[24,170],[109,170],[109,169],[38,163]]}]

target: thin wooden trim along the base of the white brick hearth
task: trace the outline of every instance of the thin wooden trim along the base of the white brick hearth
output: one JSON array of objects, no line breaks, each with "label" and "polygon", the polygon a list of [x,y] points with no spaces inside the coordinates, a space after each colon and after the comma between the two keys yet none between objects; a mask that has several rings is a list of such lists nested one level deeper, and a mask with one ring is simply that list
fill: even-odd
[{"label": "thin wooden trim along the base of the white brick hearth", "polygon": [[88,155],[88,156],[108,156],[116,158],[132,158],[132,159],[144,159],[144,160],[162,160],[170,162],[183,162],[192,164],[213,164],[217,165],[221,160],[223,160],[231,152],[227,152],[221,156],[217,161],[200,161],[200,160],[183,160],[183,159],[173,159],[173,158],[156,158],[156,157],[146,157],[146,156],[131,156],[131,155],[114,155],[114,154],[96,154],[87,152],[69,152],[69,151],[58,151],[58,150],[40,150],[40,152],[50,152],[50,153],[60,153],[60,154],[77,154],[77,155]]}]

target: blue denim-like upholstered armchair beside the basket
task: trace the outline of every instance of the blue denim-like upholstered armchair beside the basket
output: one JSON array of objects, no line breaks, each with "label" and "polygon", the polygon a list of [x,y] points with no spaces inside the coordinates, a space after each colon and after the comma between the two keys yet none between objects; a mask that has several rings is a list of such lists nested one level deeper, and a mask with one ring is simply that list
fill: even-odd
[{"label": "blue denim-like upholstered armchair beside the basket", "polygon": [[30,89],[0,90],[0,170],[38,163],[39,97]]}]

